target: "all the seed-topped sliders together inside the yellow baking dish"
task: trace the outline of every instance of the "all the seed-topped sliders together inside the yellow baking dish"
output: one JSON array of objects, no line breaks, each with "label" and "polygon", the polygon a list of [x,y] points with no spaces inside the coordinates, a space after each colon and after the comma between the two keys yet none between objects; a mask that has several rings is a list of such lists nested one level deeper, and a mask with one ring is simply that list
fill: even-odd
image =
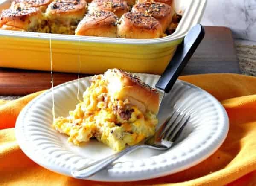
[{"label": "all the seed-topped sliders together inside the yellow baking dish", "polygon": [[180,17],[170,6],[172,0],[158,1],[139,0],[135,4],[135,0],[93,0],[88,6],[85,0],[15,0],[3,10],[0,29],[160,38],[177,27]]}]

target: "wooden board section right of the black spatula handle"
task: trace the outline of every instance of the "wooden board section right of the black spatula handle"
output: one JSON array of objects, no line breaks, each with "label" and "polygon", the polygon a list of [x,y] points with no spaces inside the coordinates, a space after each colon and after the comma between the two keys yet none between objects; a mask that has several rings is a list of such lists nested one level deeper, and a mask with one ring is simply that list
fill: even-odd
[{"label": "wooden board section right of the black spatula handle", "polygon": [[204,39],[183,70],[183,75],[204,73],[241,73],[229,28],[205,27]]}]

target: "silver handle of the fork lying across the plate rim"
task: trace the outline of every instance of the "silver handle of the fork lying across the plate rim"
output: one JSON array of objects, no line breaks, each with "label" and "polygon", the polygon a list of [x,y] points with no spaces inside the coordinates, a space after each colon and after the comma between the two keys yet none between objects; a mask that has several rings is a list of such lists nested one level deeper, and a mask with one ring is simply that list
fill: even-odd
[{"label": "silver handle of the fork lying across the plate rim", "polygon": [[113,163],[115,160],[143,146],[144,145],[134,145],[134,146],[128,147],[125,150],[117,152],[116,154],[112,154],[101,160],[97,160],[96,162],[90,163],[87,166],[83,166],[79,169],[72,170],[71,175],[73,177],[80,178],[80,179],[93,176],[93,174],[96,174],[98,171],[104,169],[105,167]]}]

